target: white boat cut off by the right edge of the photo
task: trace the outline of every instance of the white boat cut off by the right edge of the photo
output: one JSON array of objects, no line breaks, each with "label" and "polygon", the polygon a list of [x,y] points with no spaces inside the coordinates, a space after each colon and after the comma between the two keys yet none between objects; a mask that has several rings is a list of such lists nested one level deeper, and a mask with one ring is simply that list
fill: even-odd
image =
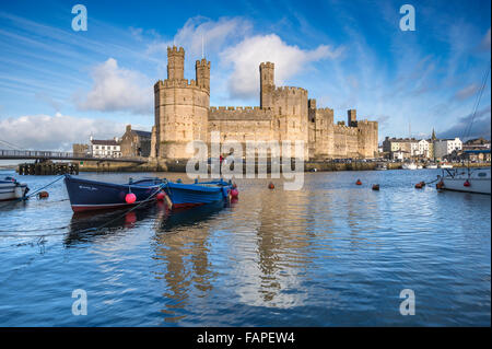
[{"label": "white boat cut off by the right edge of the photo", "polygon": [[490,168],[455,168],[443,172],[436,187],[444,190],[490,195]]}]

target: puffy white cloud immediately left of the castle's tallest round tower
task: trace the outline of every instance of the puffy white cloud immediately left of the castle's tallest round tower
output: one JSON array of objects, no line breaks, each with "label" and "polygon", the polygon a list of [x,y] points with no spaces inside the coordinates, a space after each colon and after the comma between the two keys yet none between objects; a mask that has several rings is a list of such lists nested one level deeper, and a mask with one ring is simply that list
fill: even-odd
[{"label": "puffy white cloud immediately left of the castle's tallest round tower", "polygon": [[144,74],[118,67],[114,58],[92,71],[94,84],[84,98],[75,96],[82,110],[152,114],[152,82]]}]

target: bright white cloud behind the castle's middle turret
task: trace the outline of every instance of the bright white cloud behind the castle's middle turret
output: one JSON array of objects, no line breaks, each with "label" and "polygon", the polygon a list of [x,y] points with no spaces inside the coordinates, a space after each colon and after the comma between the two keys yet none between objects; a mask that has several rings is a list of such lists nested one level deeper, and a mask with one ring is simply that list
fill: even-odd
[{"label": "bright white cloud behind the castle's middle turret", "polygon": [[290,46],[276,35],[257,35],[245,38],[239,44],[226,48],[221,54],[222,62],[233,66],[229,88],[233,97],[253,97],[259,90],[259,63],[271,61],[276,65],[276,84],[301,72],[306,65],[325,58],[337,58],[341,48],[332,49],[319,45],[313,50]]}]

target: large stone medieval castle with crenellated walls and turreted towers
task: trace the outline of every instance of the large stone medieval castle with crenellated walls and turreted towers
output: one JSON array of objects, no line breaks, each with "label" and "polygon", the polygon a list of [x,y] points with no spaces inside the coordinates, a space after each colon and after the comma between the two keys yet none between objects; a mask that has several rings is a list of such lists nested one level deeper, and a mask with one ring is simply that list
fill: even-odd
[{"label": "large stone medieval castle with crenellated walls and turreted towers", "polygon": [[333,109],[317,108],[307,90],[276,86],[272,62],[259,66],[258,107],[210,107],[210,61],[197,60],[195,69],[196,80],[185,79],[185,50],[167,48],[167,79],[154,85],[153,159],[189,159],[187,143],[210,144],[212,131],[220,132],[221,141],[242,143],[303,140],[305,159],[311,160],[374,158],[377,153],[377,121],[358,120],[351,109],[347,125],[333,124]]}]

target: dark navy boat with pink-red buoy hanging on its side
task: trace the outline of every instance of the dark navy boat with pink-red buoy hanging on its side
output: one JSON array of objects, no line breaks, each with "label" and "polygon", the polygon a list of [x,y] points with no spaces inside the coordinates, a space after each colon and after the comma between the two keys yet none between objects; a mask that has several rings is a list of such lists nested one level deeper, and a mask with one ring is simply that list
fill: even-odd
[{"label": "dark navy boat with pink-red buoy hanging on its side", "polygon": [[[128,184],[113,184],[71,175],[65,176],[65,184],[74,212],[125,208],[155,199],[162,190],[163,179],[143,178]],[[127,195],[133,194],[134,201],[127,202]]]}]

